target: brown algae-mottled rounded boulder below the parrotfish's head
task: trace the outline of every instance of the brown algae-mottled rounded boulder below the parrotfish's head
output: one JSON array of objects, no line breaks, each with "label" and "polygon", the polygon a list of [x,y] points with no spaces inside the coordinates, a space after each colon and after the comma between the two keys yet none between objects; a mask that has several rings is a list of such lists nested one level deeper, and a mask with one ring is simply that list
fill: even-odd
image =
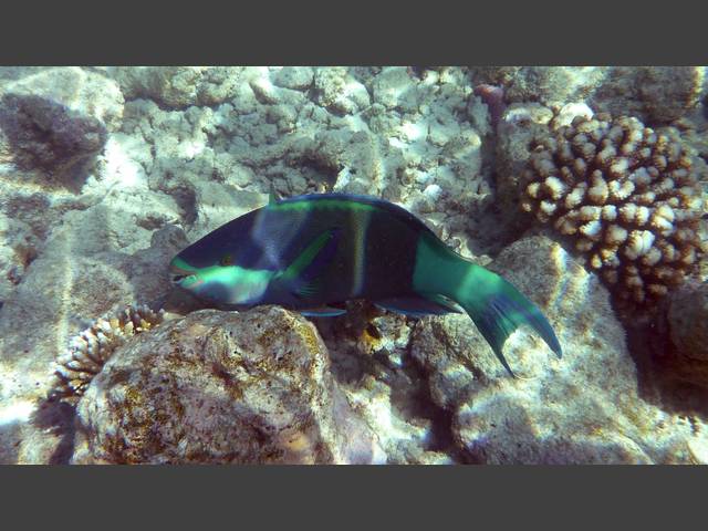
[{"label": "brown algae-mottled rounded boulder below the parrotfish's head", "polygon": [[373,462],[300,315],[204,310],[128,342],[77,405],[73,462]]}]

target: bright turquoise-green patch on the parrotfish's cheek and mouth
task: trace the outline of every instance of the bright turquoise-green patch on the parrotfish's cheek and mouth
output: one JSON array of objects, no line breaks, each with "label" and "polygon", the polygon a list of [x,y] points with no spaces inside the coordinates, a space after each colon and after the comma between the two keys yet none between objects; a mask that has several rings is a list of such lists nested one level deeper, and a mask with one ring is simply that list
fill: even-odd
[{"label": "bright turquoise-green patch on the parrotfish's cheek and mouth", "polygon": [[275,275],[275,271],[238,266],[215,264],[195,268],[179,258],[175,258],[170,267],[173,273],[185,275],[176,282],[180,288],[228,304],[258,301]]}]

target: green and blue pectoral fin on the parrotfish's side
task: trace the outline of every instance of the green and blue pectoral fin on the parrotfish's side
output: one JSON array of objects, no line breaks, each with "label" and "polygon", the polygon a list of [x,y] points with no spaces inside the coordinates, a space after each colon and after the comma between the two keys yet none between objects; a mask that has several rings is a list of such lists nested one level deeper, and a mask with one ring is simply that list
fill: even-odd
[{"label": "green and blue pectoral fin on the parrotfish's side", "polygon": [[274,280],[296,296],[314,295],[321,289],[320,277],[336,254],[341,232],[336,228],[322,232]]}]

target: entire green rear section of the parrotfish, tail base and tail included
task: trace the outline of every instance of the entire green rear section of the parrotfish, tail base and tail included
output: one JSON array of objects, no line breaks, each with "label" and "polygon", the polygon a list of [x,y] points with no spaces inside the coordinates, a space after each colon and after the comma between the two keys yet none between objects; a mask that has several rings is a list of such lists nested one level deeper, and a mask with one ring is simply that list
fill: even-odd
[{"label": "entire green rear section of the parrotfish, tail base and tail included", "polygon": [[468,262],[430,239],[421,238],[418,244],[414,288],[427,298],[441,294],[460,304],[511,376],[516,377],[502,348],[522,324],[531,326],[559,357],[562,356],[553,329],[535,304],[498,274]]}]

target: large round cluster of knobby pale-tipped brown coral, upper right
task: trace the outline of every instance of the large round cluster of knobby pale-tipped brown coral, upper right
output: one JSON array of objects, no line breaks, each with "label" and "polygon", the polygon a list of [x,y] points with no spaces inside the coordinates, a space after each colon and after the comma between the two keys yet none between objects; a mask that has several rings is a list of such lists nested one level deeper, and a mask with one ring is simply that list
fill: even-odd
[{"label": "large round cluster of knobby pale-tipped brown coral, upper right", "polygon": [[706,249],[705,199],[678,133],[634,117],[577,117],[534,147],[521,207],[576,238],[621,300],[649,306],[684,281]]}]

